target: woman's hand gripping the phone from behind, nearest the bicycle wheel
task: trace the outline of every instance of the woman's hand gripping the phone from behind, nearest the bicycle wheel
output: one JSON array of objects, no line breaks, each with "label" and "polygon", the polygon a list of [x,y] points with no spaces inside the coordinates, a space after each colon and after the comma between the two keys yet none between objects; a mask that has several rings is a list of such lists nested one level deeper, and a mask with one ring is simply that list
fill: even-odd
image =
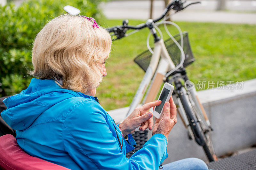
[{"label": "woman's hand gripping the phone from behind, nearest the bicycle wheel", "polygon": [[163,117],[161,119],[156,119],[152,134],[162,133],[167,138],[172,127],[176,123],[176,106],[171,97],[169,102],[164,103]]}]

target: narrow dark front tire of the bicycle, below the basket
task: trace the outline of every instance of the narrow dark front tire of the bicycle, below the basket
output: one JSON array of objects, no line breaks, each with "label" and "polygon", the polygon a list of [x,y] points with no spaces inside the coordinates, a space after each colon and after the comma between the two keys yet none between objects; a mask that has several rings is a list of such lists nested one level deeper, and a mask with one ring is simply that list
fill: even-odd
[{"label": "narrow dark front tire of the bicycle, below the basket", "polygon": [[[189,106],[189,103],[188,103],[188,96],[187,93],[184,93],[184,92],[187,92],[185,90],[184,87],[181,87],[180,90],[177,90],[178,92],[178,96],[180,98],[180,101],[182,103],[182,106],[185,110],[185,113],[188,117],[188,121],[189,121],[189,124],[190,124],[190,127],[191,127],[191,130],[194,134],[194,137],[195,137],[195,140],[196,140],[196,143],[198,145],[201,145],[204,149],[204,152],[207,156],[207,159],[211,162],[211,161],[214,161],[214,153],[210,150],[209,146],[208,146],[208,141],[206,139],[206,136],[205,134],[203,133],[202,131],[202,128],[200,126],[200,124],[198,123],[198,120],[195,116],[195,114],[193,113],[191,107]],[[191,105],[191,104],[190,104]]]}]

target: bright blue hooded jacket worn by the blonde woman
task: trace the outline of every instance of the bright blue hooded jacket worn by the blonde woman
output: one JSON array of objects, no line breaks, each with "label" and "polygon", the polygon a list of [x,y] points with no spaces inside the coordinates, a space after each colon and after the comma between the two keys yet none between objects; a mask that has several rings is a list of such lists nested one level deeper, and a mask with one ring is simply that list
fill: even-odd
[{"label": "bright blue hooded jacket worn by the blonde woman", "polygon": [[168,156],[166,138],[155,134],[126,158],[136,145],[132,135],[124,140],[93,96],[63,89],[53,80],[32,79],[26,90],[4,103],[1,116],[16,130],[20,147],[69,169],[158,169]]}]

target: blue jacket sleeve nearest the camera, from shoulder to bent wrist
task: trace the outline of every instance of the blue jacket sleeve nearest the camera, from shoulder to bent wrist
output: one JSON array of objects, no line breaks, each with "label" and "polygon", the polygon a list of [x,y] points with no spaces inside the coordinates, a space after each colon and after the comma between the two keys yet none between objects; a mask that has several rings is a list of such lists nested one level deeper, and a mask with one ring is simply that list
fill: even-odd
[{"label": "blue jacket sleeve nearest the camera, from shoulder to bent wrist", "polygon": [[142,149],[126,158],[106,122],[104,109],[95,101],[78,103],[66,115],[65,151],[81,169],[158,169],[167,158],[167,140],[155,134]]}]

